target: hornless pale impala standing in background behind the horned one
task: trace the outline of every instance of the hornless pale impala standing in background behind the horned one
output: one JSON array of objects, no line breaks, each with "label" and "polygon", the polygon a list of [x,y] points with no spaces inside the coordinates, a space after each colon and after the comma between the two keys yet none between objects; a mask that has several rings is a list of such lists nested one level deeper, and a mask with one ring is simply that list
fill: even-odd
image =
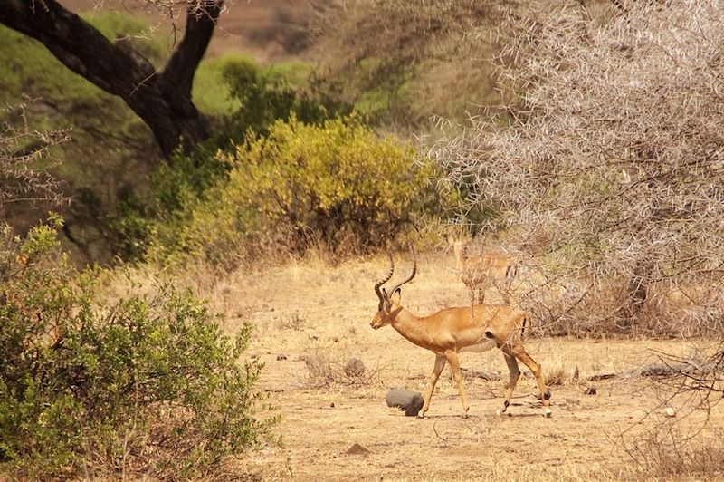
[{"label": "hornless pale impala standing in background behind the horned one", "polygon": [[489,251],[481,256],[466,257],[466,240],[462,237],[448,236],[448,243],[452,245],[462,283],[471,292],[472,304],[476,304],[476,301],[483,304],[485,292],[493,284],[502,294],[505,304],[511,304],[510,284],[518,271],[514,256],[500,251]]}]

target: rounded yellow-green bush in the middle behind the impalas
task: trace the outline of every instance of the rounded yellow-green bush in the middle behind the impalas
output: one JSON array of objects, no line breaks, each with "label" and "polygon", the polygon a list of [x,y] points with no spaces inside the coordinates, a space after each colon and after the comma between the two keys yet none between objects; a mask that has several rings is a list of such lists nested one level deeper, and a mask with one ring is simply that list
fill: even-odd
[{"label": "rounded yellow-green bush in the middle behind the impalas", "polygon": [[267,137],[222,156],[234,166],[228,182],[161,245],[233,267],[260,251],[345,255],[403,244],[414,221],[446,201],[430,183],[433,164],[415,158],[411,146],[355,119],[277,121]]}]

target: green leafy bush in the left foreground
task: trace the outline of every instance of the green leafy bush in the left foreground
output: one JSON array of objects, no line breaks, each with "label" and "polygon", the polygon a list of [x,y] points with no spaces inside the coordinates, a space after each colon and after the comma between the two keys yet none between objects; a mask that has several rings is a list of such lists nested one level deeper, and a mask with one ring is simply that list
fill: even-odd
[{"label": "green leafy bush in the left foreground", "polygon": [[254,417],[262,365],[238,363],[249,325],[224,336],[170,284],[100,303],[98,275],[70,267],[59,227],[0,238],[0,471],[201,477],[273,439],[275,419]]}]

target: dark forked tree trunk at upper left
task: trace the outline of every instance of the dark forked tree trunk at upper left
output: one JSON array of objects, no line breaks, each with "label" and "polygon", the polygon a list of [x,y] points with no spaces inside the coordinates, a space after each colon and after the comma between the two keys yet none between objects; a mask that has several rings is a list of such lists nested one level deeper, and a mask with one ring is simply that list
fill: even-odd
[{"label": "dark forked tree trunk at upper left", "polygon": [[43,43],[71,71],[118,95],[153,131],[165,157],[209,136],[191,101],[195,70],[214,33],[223,0],[191,0],[186,34],[157,70],[126,39],[110,42],[56,0],[0,0],[0,23]]}]

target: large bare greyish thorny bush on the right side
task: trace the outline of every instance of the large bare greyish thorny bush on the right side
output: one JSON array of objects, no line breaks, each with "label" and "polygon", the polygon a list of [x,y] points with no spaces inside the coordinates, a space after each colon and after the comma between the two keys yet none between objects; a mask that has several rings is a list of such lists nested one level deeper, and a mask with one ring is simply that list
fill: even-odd
[{"label": "large bare greyish thorny bush on the right side", "polygon": [[561,302],[560,323],[714,330],[724,301],[724,6],[616,5],[625,14],[603,24],[579,5],[518,22],[499,68],[504,89],[522,97],[432,154],[444,182],[470,193],[468,209],[500,213],[494,227],[537,278],[567,286],[551,296],[551,284],[534,284],[532,311]]}]

